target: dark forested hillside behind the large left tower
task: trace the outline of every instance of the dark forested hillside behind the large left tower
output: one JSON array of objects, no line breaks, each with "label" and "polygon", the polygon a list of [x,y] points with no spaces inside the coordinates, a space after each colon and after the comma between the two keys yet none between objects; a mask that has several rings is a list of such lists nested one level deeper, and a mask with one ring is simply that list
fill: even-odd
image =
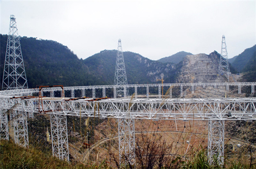
[{"label": "dark forested hillside behind the large left tower", "polygon": [[[4,69],[4,59],[8,35],[1,35],[1,85]],[[83,60],[58,42],[37,40],[32,37],[20,38],[21,51],[24,60],[29,88],[39,85],[93,85],[104,84],[97,81]]]}]

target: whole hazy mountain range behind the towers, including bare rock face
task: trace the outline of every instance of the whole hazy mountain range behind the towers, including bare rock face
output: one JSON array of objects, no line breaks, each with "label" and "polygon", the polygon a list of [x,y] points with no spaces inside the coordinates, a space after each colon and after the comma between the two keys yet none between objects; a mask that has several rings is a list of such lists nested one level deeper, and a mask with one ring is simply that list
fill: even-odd
[{"label": "whole hazy mountain range behind the towers, including bare rock face", "polygon": [[[0,34],[0,81],[3,75],[7,37]],[[83,60],[77,58],[67,46],[55,41],[21,37],[20,43],[29,88],[35,88],[37,85],[83,86],[114,83],[117,50],[102,50]],[[248,77],[251,77],[250,81],[255,81],[255,48],[256,46],[248,48],[233,59],[232,65],[235,65],[235,68],[231,65],[231,72],[251,72]],[[192,55],[181,51],[155,61],[138,53],[123,53],[129,84],[156,83],[156,78],[160,78],[161,73],[164,73],[164,83],[214,81],[214,78],[208,79],[207,73],[216,74],[220,57],[216,51],[209,55]],[[214,61],[210,61],[211,59]]]}]

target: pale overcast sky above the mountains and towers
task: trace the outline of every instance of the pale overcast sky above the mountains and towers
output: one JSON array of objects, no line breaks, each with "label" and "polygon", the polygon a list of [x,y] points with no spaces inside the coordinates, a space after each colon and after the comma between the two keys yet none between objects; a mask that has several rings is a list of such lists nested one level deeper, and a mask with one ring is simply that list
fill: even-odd
[{"label": "pale overcast sky above the mountains and towers", "polygon": [[[0,0],[0,33],[15,15],[20,36],[62,43],[87,58],[101,50],[132,51],[152,60],[179,51],[228,58],[256,44],[256,1],[10,1]],[[22,44],[21,44],[22,45]]]}]

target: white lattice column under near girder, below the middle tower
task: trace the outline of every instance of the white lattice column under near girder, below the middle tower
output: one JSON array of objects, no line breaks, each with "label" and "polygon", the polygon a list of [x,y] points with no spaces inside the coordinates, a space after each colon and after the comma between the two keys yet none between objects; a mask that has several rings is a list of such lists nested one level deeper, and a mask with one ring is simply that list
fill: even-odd
[{"label": "white lattice column under near girder, below the middle tower", "polygon": [[135,164],[134,119],[118,119],[119,162]]}]

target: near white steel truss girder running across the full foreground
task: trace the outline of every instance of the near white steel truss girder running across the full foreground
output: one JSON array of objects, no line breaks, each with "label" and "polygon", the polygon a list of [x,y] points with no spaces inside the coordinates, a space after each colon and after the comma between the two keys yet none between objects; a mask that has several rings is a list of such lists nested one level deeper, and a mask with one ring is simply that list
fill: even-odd
[{"label": "near white steel truss girder running across the full foreground", "polygon": [[[90,99],[90,98],[89,98]],[[38,99],[0,99],[0,108],[38,112]],[[40,103],[41,104],[41,103]],[[121,119],[255,120],[256,98],[43,100],[48,114]]]}]

